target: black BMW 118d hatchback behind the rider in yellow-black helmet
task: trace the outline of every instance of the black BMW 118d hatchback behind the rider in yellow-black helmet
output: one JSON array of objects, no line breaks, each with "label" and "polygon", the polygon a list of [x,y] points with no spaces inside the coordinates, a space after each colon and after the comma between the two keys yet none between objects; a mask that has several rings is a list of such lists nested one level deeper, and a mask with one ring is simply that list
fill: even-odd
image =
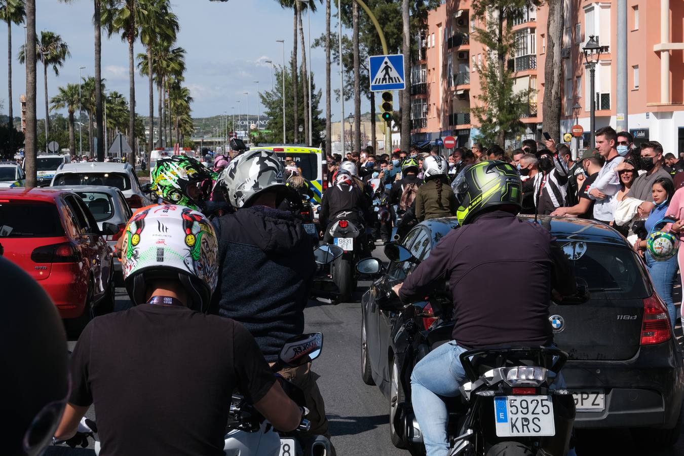
[{"label": "black BMW 118d hatchback behind the rider in yellow-black helmet", "polygon": [[[570,355],[563,374],[575,397],[575,427],[630,428],[635,437],[648,435],[650,448],[671,446],[681,433],[682,353],[644,263],[618,232],[603,224],[559,217],[540,221],[588,291],[575,304],[552,300],[549,309],[555,343]],[[412,368],[451,338],[453,321],[451,304],[443,297],[447,293],[436,290],[429,299],[404,306],[391,287],[456,228],[455,218],[413,228],[402,241],[412,257],[382,267],[361,301],[363,380],[389,398],[391,439],[399,447],[421,440],[410,406]]]}]

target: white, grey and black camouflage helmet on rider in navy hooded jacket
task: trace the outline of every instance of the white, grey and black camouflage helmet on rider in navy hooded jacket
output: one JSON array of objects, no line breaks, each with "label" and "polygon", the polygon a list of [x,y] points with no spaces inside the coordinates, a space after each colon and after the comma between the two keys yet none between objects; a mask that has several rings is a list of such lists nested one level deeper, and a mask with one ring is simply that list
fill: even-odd
[{"label": "white, grey and black camouflage helmet on rider in navy hooded jacket", "polygon": [[250,205],[255,196],[266,190],[284,190],[285,168],[272,150],[252,149],[239,155],[218,177],[226,201],[235,209]]}]

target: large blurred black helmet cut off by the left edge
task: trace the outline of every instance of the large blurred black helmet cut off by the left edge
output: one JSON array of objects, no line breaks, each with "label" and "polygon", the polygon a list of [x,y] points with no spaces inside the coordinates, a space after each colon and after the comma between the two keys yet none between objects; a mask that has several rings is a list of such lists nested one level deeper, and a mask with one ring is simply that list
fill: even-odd
[{"label": "large blurred black helmet cut off by the left edge", "polygon": [[68,347],[55,304],[27,273],[0,258],[5,392],[3,453],[40,455],[60,424],[69,394]]}]

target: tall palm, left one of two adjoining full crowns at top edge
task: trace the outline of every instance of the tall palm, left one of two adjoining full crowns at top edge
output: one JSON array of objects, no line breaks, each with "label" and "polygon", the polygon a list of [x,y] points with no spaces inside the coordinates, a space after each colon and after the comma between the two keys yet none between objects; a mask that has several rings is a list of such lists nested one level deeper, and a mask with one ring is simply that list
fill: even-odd
[{"label": "tall palm, left one of two adjoining full crowns at top edge", "polygon": [[103,3],[102,23],[107,35],[121,34],[121,40],[129,46],[129,128],[131,163],[135,163],[135,62],[133,45],[140,35],[140,28],[158,14],[154,0],[106,0]]}]

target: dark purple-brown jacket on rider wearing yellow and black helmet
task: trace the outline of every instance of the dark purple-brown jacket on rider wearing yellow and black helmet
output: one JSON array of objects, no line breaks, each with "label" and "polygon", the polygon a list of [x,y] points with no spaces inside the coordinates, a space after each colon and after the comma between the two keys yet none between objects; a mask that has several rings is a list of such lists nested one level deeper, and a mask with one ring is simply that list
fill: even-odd
[{"label": "dark purple-brown jacket on rider wearing yellow and black helmet", "polygon": [[446,279],[458,345],[549,345],[551,289],[572,295],[576,288],[554,241],[547,229],[512,213],[480,215],[439,241],[406,278],[399,297],[425,299],[438,280]]}]

